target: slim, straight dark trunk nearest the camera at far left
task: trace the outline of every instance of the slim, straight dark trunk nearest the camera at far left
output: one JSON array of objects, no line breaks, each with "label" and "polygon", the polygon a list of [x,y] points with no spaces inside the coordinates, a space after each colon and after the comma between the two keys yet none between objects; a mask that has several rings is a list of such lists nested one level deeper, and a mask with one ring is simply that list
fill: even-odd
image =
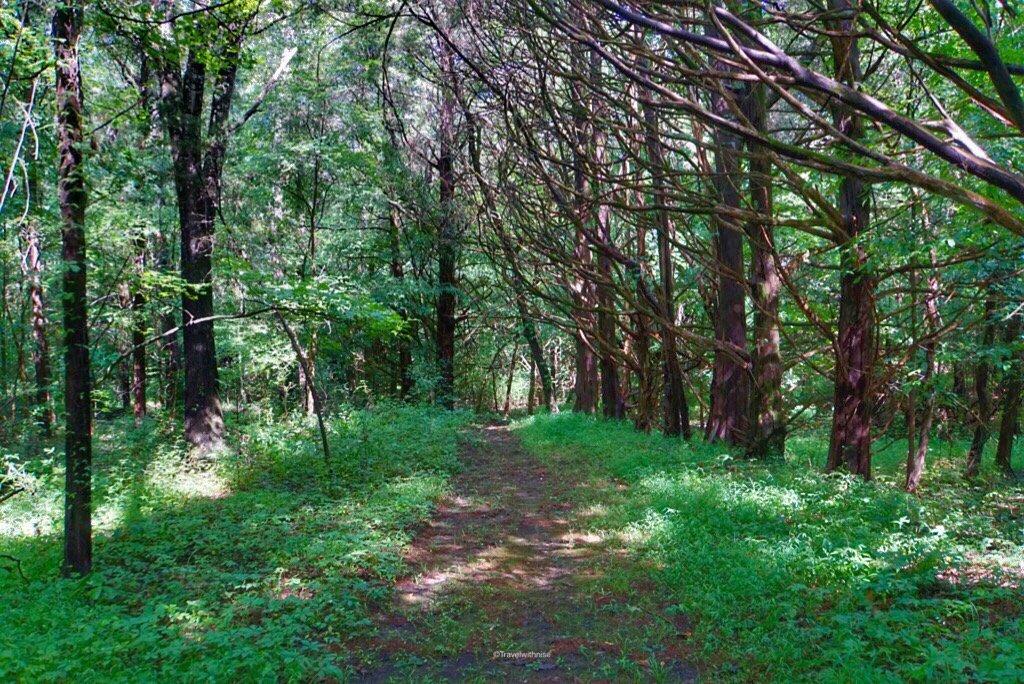
[{"label": "slim, straight dark trunk nearest the camera at far left", "polygon": [[66,0],[53,12],[56,61],[57,203],[60,207],[65,324],[65,574],[92,569],[92,379],[86,291],[82,81],[78,41],[82,8]]}]

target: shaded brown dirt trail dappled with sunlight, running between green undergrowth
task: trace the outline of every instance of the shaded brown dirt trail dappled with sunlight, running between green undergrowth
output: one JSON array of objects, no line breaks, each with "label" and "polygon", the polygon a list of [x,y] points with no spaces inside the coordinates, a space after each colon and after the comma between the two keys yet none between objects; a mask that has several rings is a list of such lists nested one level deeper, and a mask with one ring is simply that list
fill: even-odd
[{"label": "shaded brown dirt trail dappled with sunlight, running between green undergrowth", "polygon": [[[507,427],[476,437],[407,553],[414,572],[378,616],[359,681],[591,681],[648,667],[615,639],[614,597],[586,588],[618,550],[583,531],[573,473],[554,476]],[[696,679],[671,647],[664,654],[660,679]]]}]

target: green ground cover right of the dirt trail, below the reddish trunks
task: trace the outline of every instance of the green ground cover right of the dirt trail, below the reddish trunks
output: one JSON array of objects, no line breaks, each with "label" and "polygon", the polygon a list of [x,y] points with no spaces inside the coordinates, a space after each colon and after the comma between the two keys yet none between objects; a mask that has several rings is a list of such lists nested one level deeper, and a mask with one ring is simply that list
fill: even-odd
[{"label": "green ground cover right of the dirt trail, below the reddish trunks", "polygon": [[[814,437],[766,466],[572,415],[517,432],[583,474],[586,524],[628,553],[592,590],[687,615],[686,647],[712,679],[1024,678],[1024,487],[990,471],[966,483],[958,444],[933,446],[911,497],[900,443],[879,444],[863,483],[823,475]],[[984,579],[944,581],[953,570]]]}]

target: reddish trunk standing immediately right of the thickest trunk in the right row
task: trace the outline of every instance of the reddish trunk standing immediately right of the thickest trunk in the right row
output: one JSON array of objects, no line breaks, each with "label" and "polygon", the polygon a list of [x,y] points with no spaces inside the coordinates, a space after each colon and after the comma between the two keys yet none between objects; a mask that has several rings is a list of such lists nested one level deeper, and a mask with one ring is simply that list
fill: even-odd
[{"label": "reddish trunk standing immediately right of the thickest trunk in the right row", "polygon": [[[765,86],[752,86],[748,94],[752,125],[768,129]],[[751,143],[750,193],[757,218],[746,224],[751,244],[751,294],[754,304],[750,436],[748,454],[759,459],[781,459],[785,453],[782,416],[782,357],[779,351],[778,298],[782,281],[775,256],[772,225],[771,157],[763,145]]]}]

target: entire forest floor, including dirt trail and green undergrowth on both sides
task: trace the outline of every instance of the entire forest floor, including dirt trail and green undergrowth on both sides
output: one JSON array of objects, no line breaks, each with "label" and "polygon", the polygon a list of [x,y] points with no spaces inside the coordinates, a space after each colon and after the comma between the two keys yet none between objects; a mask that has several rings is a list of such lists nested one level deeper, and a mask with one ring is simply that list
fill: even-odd
[{"label": "entire forest floor, including dirt trail and green undergrowth on both sides", "polygon": [[[95,569],[59,579],[56,446],[0,504],[0,681],[1024,681],[1024,480],[937,434],[874,479],[563,413],[97,423]],[[484,421],[484,422],[481,422]],[[941,437],[941,438],[940,438]],[[991,446],[991,444],[990,444]],[[1015,455],[1024,462],[1024,448]]]}]

